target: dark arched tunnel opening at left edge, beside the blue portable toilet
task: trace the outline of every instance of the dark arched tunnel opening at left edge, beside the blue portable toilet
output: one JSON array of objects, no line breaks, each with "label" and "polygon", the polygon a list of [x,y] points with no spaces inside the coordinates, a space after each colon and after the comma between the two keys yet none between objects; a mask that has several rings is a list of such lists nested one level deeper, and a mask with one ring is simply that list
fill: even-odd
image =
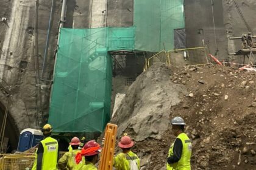
[{"label": "dark arched tunnel opening at left edge, beside the blue portable toilet", "polygon": [[[4,120],[5,106],[0,103],[0,123],[2,125]],[[1,127],[0,127],[1,128]],[[16,122],[10,112],[8,112],[6,126],[4,131],[4,138],[7,144],[6,153],[12,153],[16,151],[19,141],[19,130]]]}]

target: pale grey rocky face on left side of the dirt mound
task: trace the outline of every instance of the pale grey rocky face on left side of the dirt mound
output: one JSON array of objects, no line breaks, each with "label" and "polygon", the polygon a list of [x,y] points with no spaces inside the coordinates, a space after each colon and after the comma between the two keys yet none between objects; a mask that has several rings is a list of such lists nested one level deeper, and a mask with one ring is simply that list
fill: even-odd
[{"label": "pale grey rocky face on left side of the dirt mound", "polygon": [[118,124],[119,136],[129,129],[136,134],[136,141],[162,138],[168,129],[169,110],[180,103],[180,93],[187,93],[185,86],[169,80],[170,75],[167,67],[154,66],[129,87],[112,119]]}]

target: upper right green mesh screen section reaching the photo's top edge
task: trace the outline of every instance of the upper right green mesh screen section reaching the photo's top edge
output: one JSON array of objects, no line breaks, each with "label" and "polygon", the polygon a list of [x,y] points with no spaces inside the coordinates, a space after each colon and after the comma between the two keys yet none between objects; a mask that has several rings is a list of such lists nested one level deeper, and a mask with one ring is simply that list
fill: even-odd
[{"label": "upper right green mesh screen section reaching the photo's top edge", "polygon": [[134,0],[135,49],[174,49],[174,29],[185,27],[184,17],[183,0]]}]

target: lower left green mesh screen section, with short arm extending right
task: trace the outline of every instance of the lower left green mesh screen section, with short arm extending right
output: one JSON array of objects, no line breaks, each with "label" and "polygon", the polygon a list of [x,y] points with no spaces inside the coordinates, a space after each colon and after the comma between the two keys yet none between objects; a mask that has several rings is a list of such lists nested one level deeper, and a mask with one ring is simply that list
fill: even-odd
[{"label": "lower left green mesh screen section, with short arm extending right", "polygon": [[61,30],[49,112],[54,132],[104,130],[112,91],[107,51],[134,49],[133,42],[133,27]]}]

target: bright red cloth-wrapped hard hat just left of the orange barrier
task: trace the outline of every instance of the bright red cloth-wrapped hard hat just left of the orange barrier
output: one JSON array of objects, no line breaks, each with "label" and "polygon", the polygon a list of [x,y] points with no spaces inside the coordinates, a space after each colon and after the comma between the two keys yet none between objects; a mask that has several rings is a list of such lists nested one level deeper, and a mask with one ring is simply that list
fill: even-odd
[{"label": "bright red cloth-wrapped hard hat just left of the orange barrier", "polygon": [[94,140],[90,140],[87,143],[85,143],[83,149],[85,150],[83,154],[84,156],[97,155],[99,154],[99,152],[101,152],[101,146]]}]

